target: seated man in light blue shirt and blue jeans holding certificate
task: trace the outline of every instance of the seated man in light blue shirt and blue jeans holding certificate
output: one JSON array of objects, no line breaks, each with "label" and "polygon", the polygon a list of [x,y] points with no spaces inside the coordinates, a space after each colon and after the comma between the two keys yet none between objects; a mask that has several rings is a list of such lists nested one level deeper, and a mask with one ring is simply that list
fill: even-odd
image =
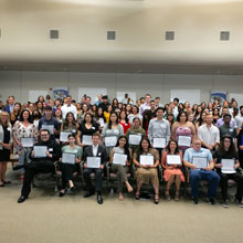
[{"label": "seated man in light blue shirt and blue jeans holding certificate", "polygon": [[210,150],[201,148],[201,140],[199,138],[194,138],[192,148],[186,150],[183,163],[190,169],[190,184],[193,203],[198,204],[200,180],[207,180],[209,181],[209,202],[215,204],[214,197],[220,177],[213,171],[214,162]]}]

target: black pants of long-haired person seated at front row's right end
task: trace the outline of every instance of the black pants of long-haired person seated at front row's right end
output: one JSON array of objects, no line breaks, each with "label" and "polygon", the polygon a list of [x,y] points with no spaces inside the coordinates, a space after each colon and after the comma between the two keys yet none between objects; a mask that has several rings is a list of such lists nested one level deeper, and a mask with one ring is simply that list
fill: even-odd
[{"label": "black pants of long-haired person seated at front row's right end", "polygon": [[242,201],[242,193],[243,193],[243,176],[240,172],[236,173],[220,173],[221,177],[221,189],[223,200],[226,200],[228,196],[228,180],[232,179],[237,183],[237,190],[235,198],[241,202]]}]

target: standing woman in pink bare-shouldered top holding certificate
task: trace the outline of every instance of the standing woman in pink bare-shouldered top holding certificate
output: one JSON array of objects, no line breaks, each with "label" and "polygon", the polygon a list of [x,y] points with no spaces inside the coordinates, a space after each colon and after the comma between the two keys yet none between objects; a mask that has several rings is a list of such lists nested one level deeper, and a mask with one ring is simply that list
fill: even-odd
[{"label": "standing woman in pink bare-shouldered top holding certificate", "polygon": [[186,112],[180,112],[177,122],[172,125],[171,137],[177,140],[179,149],[184,151],[191,147],[192,137],[196,135],[196,128],[192,123],[188,122]]}]

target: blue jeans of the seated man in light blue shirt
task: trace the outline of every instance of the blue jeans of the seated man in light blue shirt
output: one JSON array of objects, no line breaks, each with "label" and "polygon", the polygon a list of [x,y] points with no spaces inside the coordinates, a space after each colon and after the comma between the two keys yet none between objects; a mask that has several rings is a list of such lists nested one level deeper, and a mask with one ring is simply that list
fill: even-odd
[{"label": "blue jeans of the seated man in light blue shirt", "polygon": [[191,193],[193,198],[199,197],[200,180],[209,181],[208,197],[214,198],[220,182],[220,176],[212,170],[191,170],[190,184],[191,184]]}]

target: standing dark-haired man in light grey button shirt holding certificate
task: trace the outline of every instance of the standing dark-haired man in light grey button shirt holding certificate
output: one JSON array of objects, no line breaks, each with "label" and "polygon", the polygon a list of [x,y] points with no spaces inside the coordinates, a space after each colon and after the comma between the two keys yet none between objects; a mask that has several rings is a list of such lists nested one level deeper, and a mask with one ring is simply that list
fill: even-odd
[{"label": "standing dark-haired man in light grey button shirt holding certificate", "polygon": [[149,122],[148,138],[154,148],[159,151],[159,156],[161,156],[162,149],[166,148],[170,139],[170,124],[163,118],[162,107],[157,108],[156,115],[157,118]]}]

